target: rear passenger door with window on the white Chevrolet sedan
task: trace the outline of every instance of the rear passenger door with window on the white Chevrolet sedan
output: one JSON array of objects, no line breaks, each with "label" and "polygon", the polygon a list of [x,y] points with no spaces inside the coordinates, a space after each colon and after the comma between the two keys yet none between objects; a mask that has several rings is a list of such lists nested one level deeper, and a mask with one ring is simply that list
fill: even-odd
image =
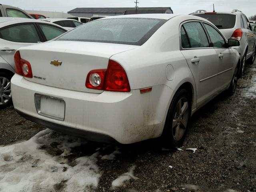
[{"label": "rear passenger door with window on the white Chevrolet sedan", "polygon": [[194,76],[196,104],[200,106],[218,91],[218,56],[201,22],[186,22],[181,26],[181,52]]}]

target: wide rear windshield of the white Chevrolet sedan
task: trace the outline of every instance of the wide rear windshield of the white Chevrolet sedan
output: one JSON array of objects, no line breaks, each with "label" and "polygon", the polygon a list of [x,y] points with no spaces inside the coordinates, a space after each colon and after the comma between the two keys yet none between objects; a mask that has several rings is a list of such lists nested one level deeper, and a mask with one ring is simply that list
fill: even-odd
[{"label": "wide rear windshield of the white Chevrolet sedan", "polygon": [[142,45],[166,21],[150,18],[95,20],[67,32],[57,40]]}]

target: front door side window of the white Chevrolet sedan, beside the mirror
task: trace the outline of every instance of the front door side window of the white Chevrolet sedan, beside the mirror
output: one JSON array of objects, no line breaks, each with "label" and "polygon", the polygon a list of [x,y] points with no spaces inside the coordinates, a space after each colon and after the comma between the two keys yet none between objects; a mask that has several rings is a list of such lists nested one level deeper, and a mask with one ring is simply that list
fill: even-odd
[{"label": "front door side window of the white Chevrolet sedan, beside the mirror", "polygon": [[225,42],[224,38],[220,35],[220,33],[208,24],[204,23],[204,26],[210,36],[213,46],[214,47],[225,47],[226,42]]}]

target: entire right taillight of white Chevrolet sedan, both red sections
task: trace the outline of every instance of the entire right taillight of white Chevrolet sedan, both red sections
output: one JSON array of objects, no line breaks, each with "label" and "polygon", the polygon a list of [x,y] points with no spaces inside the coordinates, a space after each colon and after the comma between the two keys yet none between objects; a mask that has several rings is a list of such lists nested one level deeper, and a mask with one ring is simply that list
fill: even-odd
[{"label": "entire right taillight of white Chevrolet sedan, both red sections", "polygon": [[124,68],[113,60],[109,60],[108,69],[90,71],[85,84],[87,88],[91,89],[130,92],[130,85]]}]

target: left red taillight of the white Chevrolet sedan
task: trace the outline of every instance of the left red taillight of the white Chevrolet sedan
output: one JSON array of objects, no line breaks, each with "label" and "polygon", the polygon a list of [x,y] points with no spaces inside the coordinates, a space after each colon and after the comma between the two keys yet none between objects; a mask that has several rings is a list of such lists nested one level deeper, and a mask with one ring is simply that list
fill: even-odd
[{"label": "left red taillight of the white Chevrolet sedan", "polygon": [[27,60],[20,58],[20,52],[16,51],[14,55],[15,73],[24,77],[32,78],[31,65]]}]

